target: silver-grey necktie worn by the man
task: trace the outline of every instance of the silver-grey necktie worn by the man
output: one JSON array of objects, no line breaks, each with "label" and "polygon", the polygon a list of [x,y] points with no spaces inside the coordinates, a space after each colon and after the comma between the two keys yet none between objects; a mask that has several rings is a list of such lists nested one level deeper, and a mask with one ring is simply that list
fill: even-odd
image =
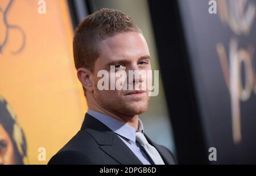
[{"label": "silver-grey necktie worn by the man", "polygon": [[162,157],[155,149],[155,147],[148,143],[146,137],[142,134],[142,132],[136,132],[136,141],[141,144],[141,146],[147,152],[148,156],[151,157],[152,161],[154,161],[156,165],[164,165]]}]

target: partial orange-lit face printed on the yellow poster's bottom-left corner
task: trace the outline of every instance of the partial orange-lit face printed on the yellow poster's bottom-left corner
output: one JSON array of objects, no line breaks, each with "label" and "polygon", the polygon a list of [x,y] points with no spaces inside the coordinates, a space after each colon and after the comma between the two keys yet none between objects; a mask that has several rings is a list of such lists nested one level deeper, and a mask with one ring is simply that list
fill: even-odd
[{"label": "partial orange-lit face printed on the yellow poster's bottom-left corner", "polygon": [[0,165],[18,164],[15,157],[14,146],[9,134],[0,124]]}]

